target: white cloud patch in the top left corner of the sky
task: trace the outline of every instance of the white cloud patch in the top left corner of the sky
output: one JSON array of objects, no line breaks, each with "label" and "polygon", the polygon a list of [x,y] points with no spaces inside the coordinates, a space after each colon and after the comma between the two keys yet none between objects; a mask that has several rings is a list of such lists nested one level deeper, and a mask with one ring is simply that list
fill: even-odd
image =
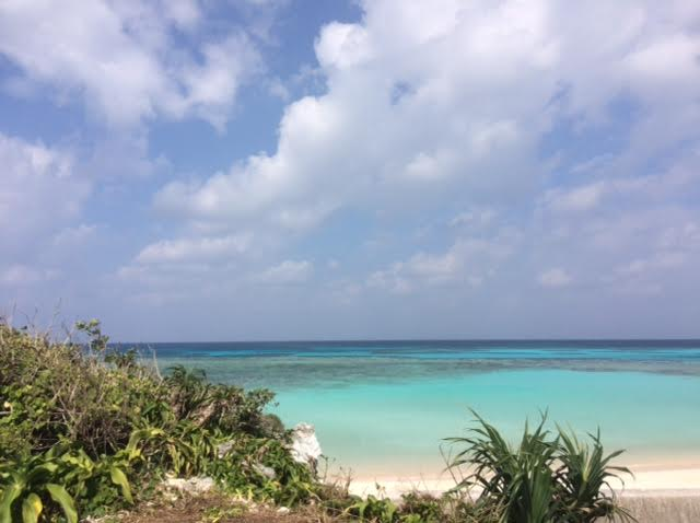
[{"label": "white cloud patch in the top left corner of the sky", "polygon": [[32,80],[84,94],[112,125],[197,116],[221,128],[259,58],[243,33],[177,48],[175,31],[195,30],[200,18],[194,1],[9,0],[0,53]]}]

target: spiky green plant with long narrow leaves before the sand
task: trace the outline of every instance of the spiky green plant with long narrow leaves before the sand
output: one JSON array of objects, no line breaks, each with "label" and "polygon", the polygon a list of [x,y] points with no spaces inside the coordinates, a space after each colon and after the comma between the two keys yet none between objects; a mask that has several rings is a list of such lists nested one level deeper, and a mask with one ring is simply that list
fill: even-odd
[{"label": "spiky green plant with long narrow leaves before the sand", "polygon": [[560,427],[545,428],[546,416],[512,448],[501,433],[476,415],[478,425],[467,438],[451,438],[463,446],[448,464],[470,467],[454,490],[478,487],[478,503],[497,507],[502,523],[588,523],[605,518],[633,521],[619,505],[609,480],[629,474],[610,465],[620,452],[603,453],[599,435],[585,443]]}]

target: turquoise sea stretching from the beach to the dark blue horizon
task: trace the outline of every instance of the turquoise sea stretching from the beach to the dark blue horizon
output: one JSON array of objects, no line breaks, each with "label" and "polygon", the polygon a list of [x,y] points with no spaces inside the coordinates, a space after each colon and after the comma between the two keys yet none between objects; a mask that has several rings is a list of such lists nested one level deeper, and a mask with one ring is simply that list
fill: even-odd
[{"label": "turquoise sea stretching from the beach to the dark blue horizon", "polygon": [[158,364],[268,387],[288,426],[316,427],[331,467],[432,477],[474,426],[515,440],[525,419],[598,428],[633,467],[700,464],[700,340],[140,345]]}]

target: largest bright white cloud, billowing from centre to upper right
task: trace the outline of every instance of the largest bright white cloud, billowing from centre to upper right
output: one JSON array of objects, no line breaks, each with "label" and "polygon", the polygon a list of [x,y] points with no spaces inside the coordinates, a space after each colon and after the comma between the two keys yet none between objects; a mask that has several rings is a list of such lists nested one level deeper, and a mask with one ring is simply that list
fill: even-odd
[{"label": "largest bright white cloud, billowing from centre to upper right", "polygon": [[[667,121],[677,116],[668,116],[668,100],[674,107],[695,100],[698,68],[688,57],[700,39],[687,28],[698,10],[684,2],[664,9],[664,23],[655,2],[362,7],[361,23],[320,31],[315,50],[327,90],[288,105],[273,152],[203,182],[171,183],[156,207],[189,221],[305,230],[349,206],[510,204],[546,181],[538,144],[557,119],[600,125],[625,92]],[[682,53],[674,62],[680,71],[652,74],[655,49]],[[656,85],[663,96],[651,94]],[[678,127],[698,135],[700,115]],[[596,182],[555,187],[547,198],[585,211],[607,190]]]}]

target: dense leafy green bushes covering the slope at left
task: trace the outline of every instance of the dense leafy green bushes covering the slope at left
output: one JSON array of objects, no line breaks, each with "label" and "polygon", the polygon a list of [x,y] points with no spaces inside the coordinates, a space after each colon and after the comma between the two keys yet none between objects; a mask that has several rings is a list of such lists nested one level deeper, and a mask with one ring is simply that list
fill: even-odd
[{"label": "dense leafy green bushes covering the slope at left", "polygon": [[136,352],[110,350],[97,322],[78,330],[86,341],[0,324],[0,523],[75,522],[79,511],[133,503],[166,474],[208,475],[280,502],[307,499],[311,472],[264,411],[271,392],[214,385],[182,367],[162,379]]}]

